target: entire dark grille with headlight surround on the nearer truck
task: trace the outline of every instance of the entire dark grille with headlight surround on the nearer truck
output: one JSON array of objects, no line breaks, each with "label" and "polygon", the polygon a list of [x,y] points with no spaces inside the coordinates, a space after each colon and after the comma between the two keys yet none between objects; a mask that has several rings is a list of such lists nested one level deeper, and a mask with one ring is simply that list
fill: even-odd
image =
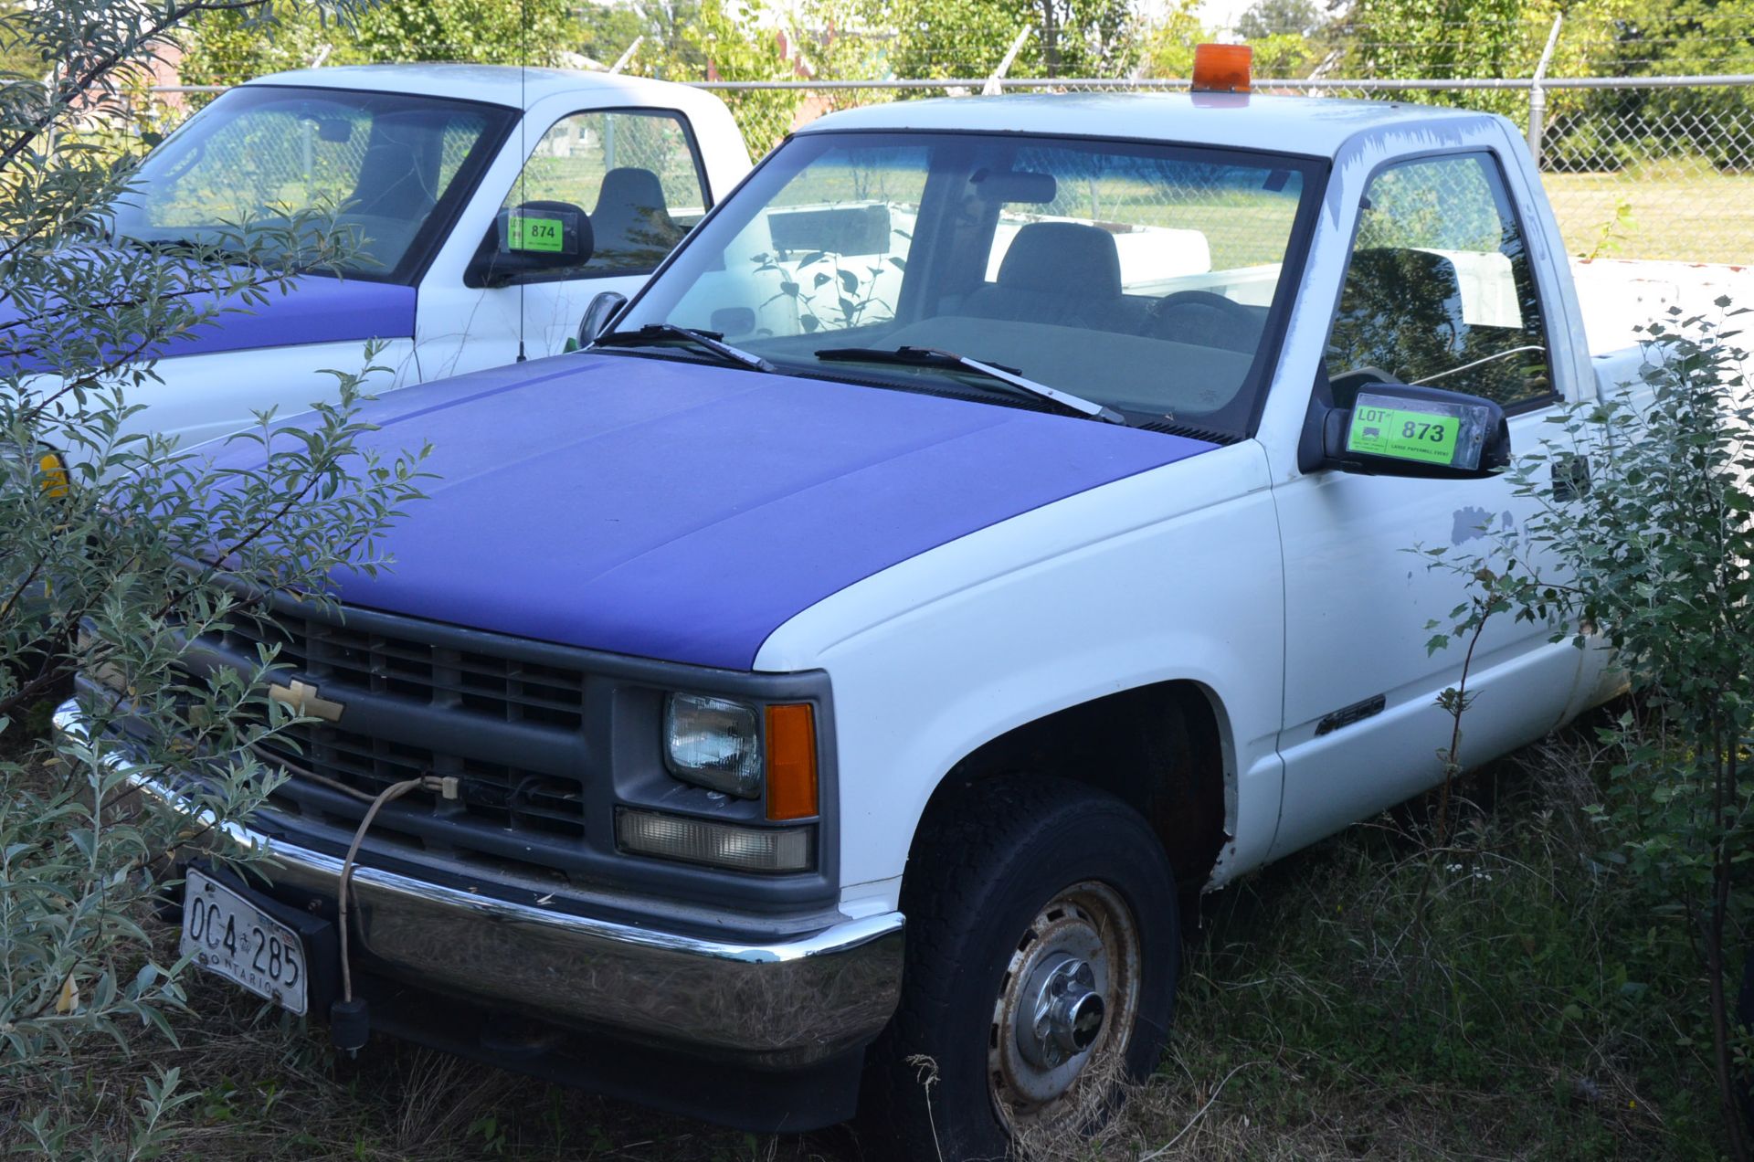
[{"label": "entire dark grille with headlight surround on the nearer truck", "polygon": [[[184,660],[198,688],[225,671],[254,669],[270,646],[281,697],[302,702],[300,692],[314,693],[303,706],[323,718],[282,725],[256,742],[261,762],[288,776],[254,814],[274,839],[340,858],[386,786],[454,778],[458,799],[416,790],[386,802],[360,858],[537,906],[600,900],[630,918],[644,915],[626,902],[635,897],[663,900],[663,915],[681,915],[675,904],[688,915],[707,906],[747,916],[831,909],[840,883],[831,811],[812,823],[819,867],[759,883],[624,855],[614,830],[623,804],[766,825],[759,802],[710,799],[668,778],[665,693],[809,700],[821,707],[817,728],[831,730],[826,674],[738,674],[296,597],[251,609],[232,614],[233,628],[189,642]],[[149,734],[153,723],[130,730]],[[830,792],[833,755],[828,735],[819,779]],[[200,765],[191,764],[191,774]],[[582,895],[568,904],[556,892]],[[712,930],[724,936],[717,923]],[[766,920],[749,932],[768,932]]]}]

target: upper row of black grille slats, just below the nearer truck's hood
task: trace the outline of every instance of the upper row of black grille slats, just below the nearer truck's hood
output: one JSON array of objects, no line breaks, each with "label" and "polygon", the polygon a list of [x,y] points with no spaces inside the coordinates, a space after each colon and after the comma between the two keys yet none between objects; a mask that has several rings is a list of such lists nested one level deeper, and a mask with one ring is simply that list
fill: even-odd
[{"label": "upper row of black grille slats, just below the nearer truck's hood", "polygon": [[272,620],[239,618],[221,644],[244,656],[256,656],[258,646],[279,646],[277,660],[295,672],[354,690],[417,699],[500,721],[563,730],[584,725],[584,674],[572,669],[446,649],[289,611]]}]

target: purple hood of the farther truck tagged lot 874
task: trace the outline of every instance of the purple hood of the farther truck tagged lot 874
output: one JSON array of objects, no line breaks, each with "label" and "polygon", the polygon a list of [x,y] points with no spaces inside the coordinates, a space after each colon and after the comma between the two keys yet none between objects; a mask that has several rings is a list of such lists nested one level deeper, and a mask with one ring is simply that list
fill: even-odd
[{"label": "purple hood of the farther truck tagged lot 874", "polygon": [[[263,302],[226,309],[195,326],[188,335],[170,339],[147,358],[175,358],[182,355],[212,355],[217,351],[246,351],[253,348],[286,348],[305,342],[365,342],[367,339],[407,339],[414,335],[414,288],[391,283],[365,283],[307,274],[289,279],[282,293],[265,288]],[[207,305],[217,295],[191,297]],[[16,321],[25,311],[18,300],[0,305],[0,328]],[[44,360],[23,358],[30,370],[47,370]]]}]

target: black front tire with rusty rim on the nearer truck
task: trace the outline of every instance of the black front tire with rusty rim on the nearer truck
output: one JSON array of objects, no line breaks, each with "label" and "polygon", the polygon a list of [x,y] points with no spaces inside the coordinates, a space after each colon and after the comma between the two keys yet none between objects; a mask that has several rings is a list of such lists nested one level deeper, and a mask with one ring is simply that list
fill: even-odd
[{"label": "black front tire with rusty rim on the nearer truck", "polygon": [[[1130,913],[1131,930],[1119,920],[1091,922],[1119,916],[1116,900]],[[1180,969],[1175,878],[1145,820],[1114,795],[1038,776],[968,788],[921,828],[902,911],[902,1004],[872,1046],[859,1109],[861,1136],[879,1151],[945,1162],[1005,1158],[1014,1127],[1024,1139],[1077,1134],[1103,1116],[1121,1076],[1138,1080],[1156,1067]],[[1080,923],[1089,930],[1080,934]],[[1087,1034],[1086,1022],[1075,1034],[1094,1036],[1091,1048],[1047,1046],[1051,1057],[1066,1053],[1049,1071],[1040,1055],[1051,1037],[1031,1039],[1030,1030],[1042,1025],[1028,1016],[1030,1002],[1017,999],[1042,995],[1042,981],[1065,986],[1047,979],[1056,964],[1065,967],[1056,941],[1070,941],[1075,951],[1077,939],[1096,932],[1107,936],[1087,964],[1102,965],[1100,981],[1116,995],[1105,995],[1100,1032]],[[1105,951],[1124,937],[1138,950],[1137,986]],[[1066,1025],[1058,1029],[1065,1036]],[[1024,1041],[1030,1050],[1021,1048]],[[1030,1051],[1035,1062],[1023,1060]],[[1084,1072],[1084,1065],[1093,1067]],[[1063,1097],[1031,1106],[1031,1087],[1051,1090],[1068,1067],[1079,1069],[1079,1081]],[[1000,1109],[1002,1094],[1010,1113]]]}]

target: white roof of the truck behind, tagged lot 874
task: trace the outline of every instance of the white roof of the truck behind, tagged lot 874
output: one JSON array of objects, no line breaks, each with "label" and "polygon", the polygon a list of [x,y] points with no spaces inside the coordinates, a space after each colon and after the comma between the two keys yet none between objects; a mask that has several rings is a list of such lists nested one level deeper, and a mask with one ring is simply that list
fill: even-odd
[{"label": "white roof of the truck behind, tagged lot 874", "polygon": [[519,68],[517,65],[337,65],[295,68],[256,77],[246,84],[298,84],[330,90],[419,93],[479,100],[512,109],[530,109],[549,97],[581,97],[589,105],[689,107],[710,97],[670,81],[577,68]]}]

